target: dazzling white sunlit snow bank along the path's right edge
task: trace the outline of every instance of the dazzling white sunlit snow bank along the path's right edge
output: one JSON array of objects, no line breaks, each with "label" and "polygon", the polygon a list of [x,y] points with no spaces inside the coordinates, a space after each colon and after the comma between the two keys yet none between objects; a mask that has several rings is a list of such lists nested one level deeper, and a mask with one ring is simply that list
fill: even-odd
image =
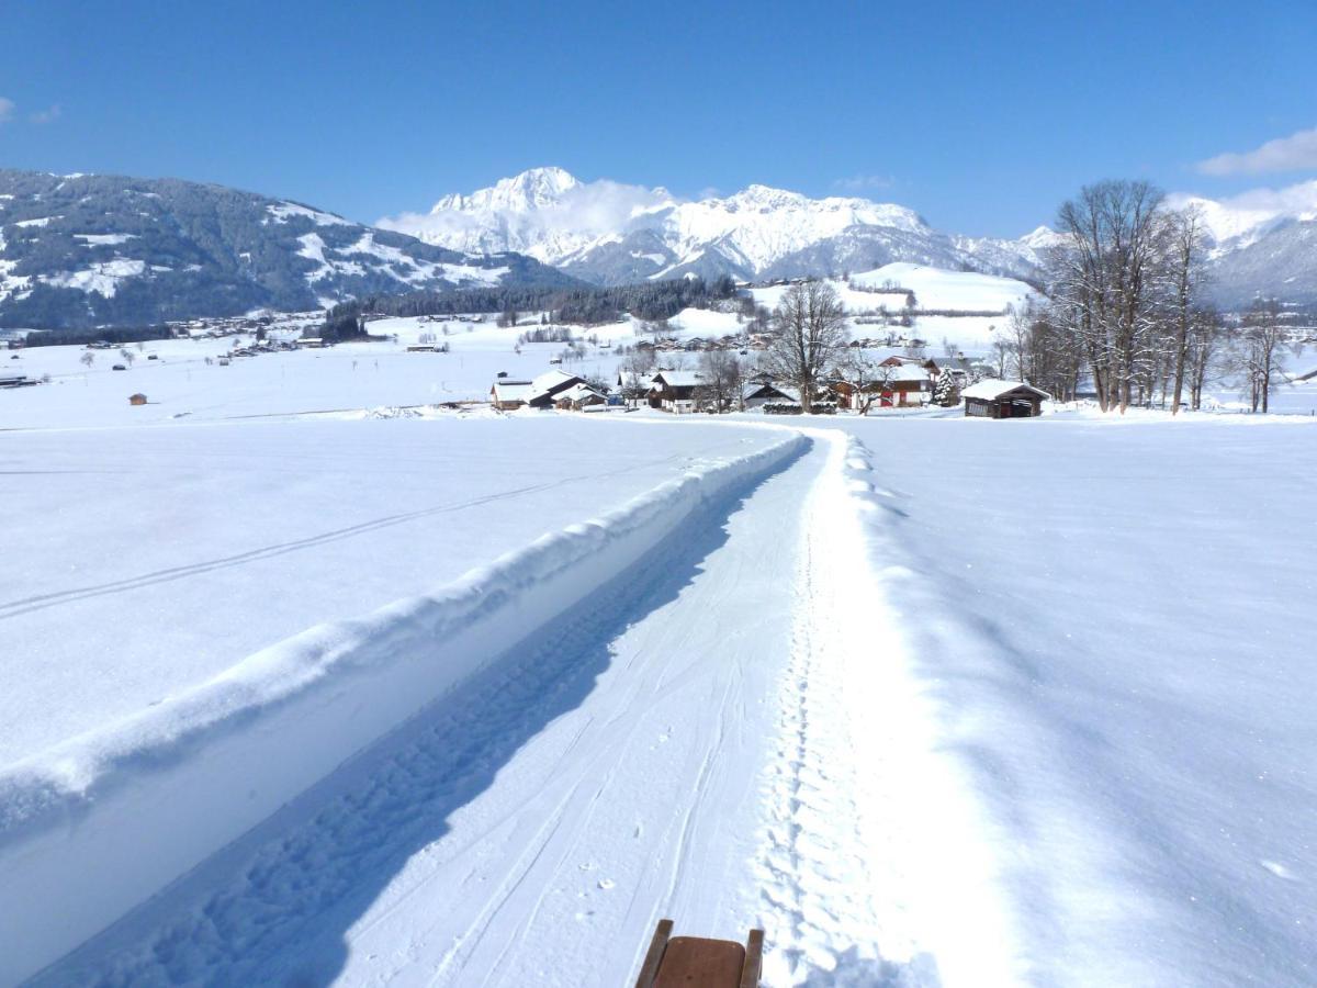
[{"label": "dazzling white sunlit snow bank along the path's right edge", "polygon": [[[1010,835],[985,811],[961,752],[948,743],[955,732],[925,660],[946,636],[959,638],[957,615],[930,593],[903,549],[905,508],[874,483],[869,449],[855,436],[831,439],[842,490],[830,559],[846,572],[831,595],[848,635],[839,644],[848,656],[847,715],[863,725],[847,755],[867,768],[852,798],[873,848],[871,867],[884,863],[882,956],[909,966],[913,977],[935,958],[936,981],[948,987],[1023,984],[1030,972],[1019,917],[1000,863]],[[863,951],[836,963],[819,974],[822,983],[869,984],[876,975]]]}]

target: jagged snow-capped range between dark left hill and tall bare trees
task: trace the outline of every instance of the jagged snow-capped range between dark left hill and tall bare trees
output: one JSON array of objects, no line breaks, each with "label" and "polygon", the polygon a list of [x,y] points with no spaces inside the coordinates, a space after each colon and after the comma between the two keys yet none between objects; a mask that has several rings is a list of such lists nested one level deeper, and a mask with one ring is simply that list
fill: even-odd
[{"label": "jagged snow-capped range between dark left hill and tall bare trees", "polygon": [[601,285],[686,273],[831,274],[896,261],[1030,277],[1039,260],[1029,237],[955,237],[890,203],[810,199],[759,184],[726,198],[681,200],[662,187],[581,182],[556,167],[448,195],[428,213],[379,225],[453,250],[522,252]]}]

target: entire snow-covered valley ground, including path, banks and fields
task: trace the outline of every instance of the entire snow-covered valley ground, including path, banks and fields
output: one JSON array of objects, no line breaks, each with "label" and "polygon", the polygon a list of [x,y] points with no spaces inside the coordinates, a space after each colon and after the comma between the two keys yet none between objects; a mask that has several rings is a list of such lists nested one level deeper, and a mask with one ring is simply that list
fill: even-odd
[{"label": "entire snow-covered valley ground, including path, banks and fields", "polygon": [[498,415],[437,404],[561,344],[371,328],[12,361],[0,983],[619,984],[661,916],[772,988],[1317,980],[1317,386]]}]

